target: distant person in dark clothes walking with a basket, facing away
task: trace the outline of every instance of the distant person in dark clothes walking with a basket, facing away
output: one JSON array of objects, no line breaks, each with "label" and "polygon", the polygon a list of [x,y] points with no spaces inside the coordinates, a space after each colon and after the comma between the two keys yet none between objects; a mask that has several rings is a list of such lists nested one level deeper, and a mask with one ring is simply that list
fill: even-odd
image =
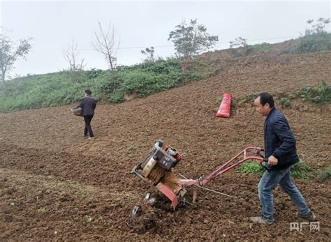
[{"label": "distant person in dark clothes walking with a basket, facing away", "polygon": [[90,138],[94,137],[94,133],[91,128],[91,120],[94,116],[94,109],[96,109],[96,100],[91,97],[91,93],[91,90],[85,90],[85,96],[82,98],[82,101],[78,106],[82,108],[82,116],[85,121],[84,136],[87,136],[87,133],[89,133]]}]

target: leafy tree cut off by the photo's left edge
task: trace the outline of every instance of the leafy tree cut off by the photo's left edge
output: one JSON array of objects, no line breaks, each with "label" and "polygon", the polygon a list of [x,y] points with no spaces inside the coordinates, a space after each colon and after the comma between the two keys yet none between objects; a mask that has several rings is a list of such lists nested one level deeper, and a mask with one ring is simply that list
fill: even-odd
[{"label": "leafy tree cut off by the photo's left edge", "polygon": [[31,50],[32,38],[22,38],[16,43],[4,33],[0,33],[0,80],[6,80],[6,74],[11,70],[15,62],[20,59],[26,59],[27,54]]}]

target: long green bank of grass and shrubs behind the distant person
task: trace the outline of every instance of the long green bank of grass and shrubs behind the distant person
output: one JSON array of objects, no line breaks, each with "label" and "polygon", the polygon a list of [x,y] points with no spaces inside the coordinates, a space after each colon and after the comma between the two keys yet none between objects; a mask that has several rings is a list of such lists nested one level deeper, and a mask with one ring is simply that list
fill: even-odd
[{"label": "long green bank of grass and shrubs behind the distant person", "polygon": [[186,82],[202,80],[196,63],[182,73],[179,61],[168,59],[119,66],[116,71],[88,70],[73,73],[61,71],[45,75],[28,75],[0,84],[0,112],[54,107],[76,103],[91,89],[92,96],[108,103],[122,103],[124,96],[148,96]]}]

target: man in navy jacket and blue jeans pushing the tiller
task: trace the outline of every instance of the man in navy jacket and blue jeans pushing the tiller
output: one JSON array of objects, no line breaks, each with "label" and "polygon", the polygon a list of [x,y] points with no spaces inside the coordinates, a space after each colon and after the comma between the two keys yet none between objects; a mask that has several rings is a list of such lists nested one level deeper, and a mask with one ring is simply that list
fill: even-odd
[{"label": "man in navy jacket and blue jeans pushing the tiller", "polygon": [[290,179],[290,166],[299,161],[295,148],[295,137],[290,130],[284,114],[274,107],[274,99],[269,93],[260,93],[254,100],[256,111],[267,116],[264,124],[265,158],[267,170],[258,183],[258,197],[262,206],[262,215],[251,217],[253,222],[271,225],[274,222],[273,190],[279,184],[282,190],[290,195],[297,216],[315,220],[293,181]]}]

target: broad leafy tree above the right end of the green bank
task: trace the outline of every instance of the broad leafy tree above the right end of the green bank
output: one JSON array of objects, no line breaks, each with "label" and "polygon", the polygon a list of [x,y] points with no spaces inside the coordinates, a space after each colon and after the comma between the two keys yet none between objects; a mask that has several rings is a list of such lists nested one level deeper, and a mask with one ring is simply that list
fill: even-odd
[{"label": "broad leafy tree above the right end of the green bank", "polygon": [[187,60],[213,47],[219,41],[219,36],[209,35],[205,26],[198,24],[197,20],[191,20],[189,25],[185,21],[177,25],[175,30],[169,33],[168,40],[174,43],[177,55]]}]

